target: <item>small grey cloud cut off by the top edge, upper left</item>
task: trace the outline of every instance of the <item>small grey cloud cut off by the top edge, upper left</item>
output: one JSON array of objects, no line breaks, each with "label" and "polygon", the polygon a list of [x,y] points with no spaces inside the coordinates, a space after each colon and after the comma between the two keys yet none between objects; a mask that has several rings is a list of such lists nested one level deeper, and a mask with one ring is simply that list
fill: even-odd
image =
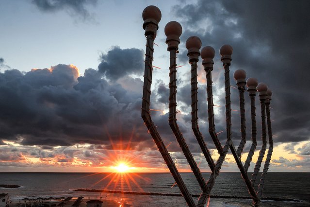
[{"label": "small grey cloud cut off by the top edge, upper left", "polygon": [[97,0],[33,0],[32,2],[43,12],[65,10],[84,19],[90,17],[87,5],[97,4]]}]

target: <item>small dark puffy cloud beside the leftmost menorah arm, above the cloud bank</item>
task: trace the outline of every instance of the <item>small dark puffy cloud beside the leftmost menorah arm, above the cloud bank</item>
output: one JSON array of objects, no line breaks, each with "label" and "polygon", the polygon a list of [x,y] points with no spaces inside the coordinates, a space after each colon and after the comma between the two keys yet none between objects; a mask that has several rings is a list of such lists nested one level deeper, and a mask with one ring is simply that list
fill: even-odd
[{"label": "small dark puffy cloud beside the leftmost menorah arm, above the cloud bank", "polygon": [[142,74],[143,64],[144,53],[142,50],[114,47],[106,54],[101,55],[98,70],[111,81],[115,81],[126,75]]}]

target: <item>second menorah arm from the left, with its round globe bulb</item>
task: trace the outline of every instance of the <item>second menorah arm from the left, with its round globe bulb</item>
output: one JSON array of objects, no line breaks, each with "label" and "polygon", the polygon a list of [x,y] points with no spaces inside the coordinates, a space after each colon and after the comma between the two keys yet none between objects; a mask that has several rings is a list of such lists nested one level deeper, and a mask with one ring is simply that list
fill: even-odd
[{"label": "second menorah arm from the left, with its round globe bulb", "polygon": [[205,204],[208,199],[208,196],[205,194],[205,192],[207,191],[206,182],[196,164],[194,156],[189,150],[185,139],[179,130],[179,126],[177,123],[177,51],[179,49],[179,36],[182,34],[182,27],[179,22],[170,21],[166,24],[164,28],[164,33],[167,36],[167,50],[170,52],[169,125],[202,190],[199,201]]}]

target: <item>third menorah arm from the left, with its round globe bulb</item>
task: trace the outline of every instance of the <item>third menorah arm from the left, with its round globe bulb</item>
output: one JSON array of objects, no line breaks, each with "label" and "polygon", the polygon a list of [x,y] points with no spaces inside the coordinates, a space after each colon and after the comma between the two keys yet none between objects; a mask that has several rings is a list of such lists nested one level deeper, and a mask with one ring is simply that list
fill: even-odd
[{"label": "third menorah arm from the left, with its round globe bulb", "polygon": [[201,151],[213,172],[215,164],[198,126],[197,62],[200,55],[199,49],[201,48],[201,40],[199,37],[190,36],[186,40],[186,48],[188,50],[187,56],[189,57],[189,63],[191,64],[192,129]]}]

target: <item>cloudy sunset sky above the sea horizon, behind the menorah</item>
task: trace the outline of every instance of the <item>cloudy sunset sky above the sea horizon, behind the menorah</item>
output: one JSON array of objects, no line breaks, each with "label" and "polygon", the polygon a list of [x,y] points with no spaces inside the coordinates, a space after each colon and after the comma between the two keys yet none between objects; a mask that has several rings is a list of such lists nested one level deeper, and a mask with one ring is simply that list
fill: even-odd
[{"label": "cloudy sunset sky above the sea horizon, behind the menorah", "polygon": [[[155,5],[162,19],[155,39],[152,119],[181,172],[190,172],[168,124],[169,53],[164,26],[182,26],[178,53],[178,124],[199,168],[210,172],[191,129],[190,65],[185,41],[212,46],[216,131],[225,130],[224,71],[219,48],[233,47],[232,74],[266,83],[274,153],[271,172],[310,172],[310,2],[307,0],[2,0],[0,6],[0,172],[168,172],[141,118],[146,38],[142,11]],[[199,128],[208,133],[205,72],[198,62]],[[231,88],[232,109],[239,108]],[[245,93],[247,142],[251,145]],[[258,147],[261,148],[257,99]],[[239,111],[232,139],[240,141]],[[222,144],[226,133],[219,134]],[[252,162],[249,172],[253,170]],[[238,172],[231,153],[221,172]]]}]

